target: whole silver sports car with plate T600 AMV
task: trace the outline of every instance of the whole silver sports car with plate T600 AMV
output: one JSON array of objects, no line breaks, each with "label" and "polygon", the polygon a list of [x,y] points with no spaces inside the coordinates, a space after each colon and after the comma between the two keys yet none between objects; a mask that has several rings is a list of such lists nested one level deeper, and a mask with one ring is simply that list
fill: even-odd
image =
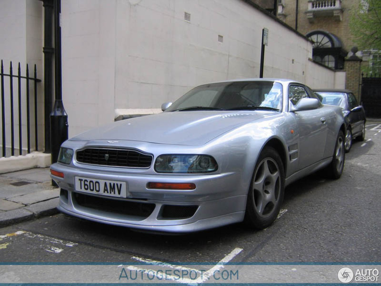
[{"label": "whole silver sports car with plate T600 AMV", "polygon": [[196,87],[160,114],[114,122],[61,146],[59,210],[141,230],[190,232],[276,219],[285,186],[339,178],[346,125],[306,85],[240,79]]}]

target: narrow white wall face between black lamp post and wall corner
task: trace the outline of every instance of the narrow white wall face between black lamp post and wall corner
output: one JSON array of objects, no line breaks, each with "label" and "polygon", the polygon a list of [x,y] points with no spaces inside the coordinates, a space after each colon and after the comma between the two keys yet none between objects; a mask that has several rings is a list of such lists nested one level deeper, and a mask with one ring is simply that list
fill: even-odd
[{"label": "narrow white wall face between black lamp post and wall corner", "polygon": [[62,100],[69,136],[114,120],[116,1],[64,0]]}]

